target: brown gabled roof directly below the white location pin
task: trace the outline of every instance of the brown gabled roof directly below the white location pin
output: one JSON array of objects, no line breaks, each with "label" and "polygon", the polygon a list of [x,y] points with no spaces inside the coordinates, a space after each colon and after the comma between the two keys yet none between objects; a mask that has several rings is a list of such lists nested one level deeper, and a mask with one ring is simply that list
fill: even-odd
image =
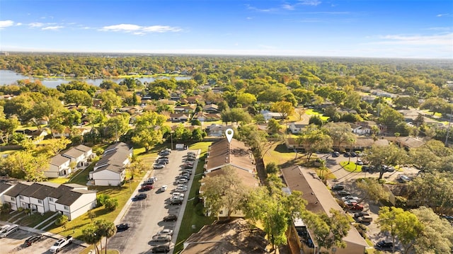
[{"label": "brown gabled roof directly below the white location pin", "polygon": [[231,139],[231,143],[222,139],[210,146],[205,170],[210,171],[227,165],[250,172],[256,171],[253,154],[243,142],[237,139]]}]

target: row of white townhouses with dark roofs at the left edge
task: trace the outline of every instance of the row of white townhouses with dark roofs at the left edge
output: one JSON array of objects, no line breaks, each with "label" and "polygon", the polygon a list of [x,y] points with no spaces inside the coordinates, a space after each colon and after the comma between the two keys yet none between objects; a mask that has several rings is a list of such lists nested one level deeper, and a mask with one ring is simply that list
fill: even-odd
[{"label": "row of white townhouses with dark roofs at the left edge", "polygon": [[60,212],[71,220],[96,207],[96,192],[77,184],[18,183],[4,193],[4,200],[13,210]]}]

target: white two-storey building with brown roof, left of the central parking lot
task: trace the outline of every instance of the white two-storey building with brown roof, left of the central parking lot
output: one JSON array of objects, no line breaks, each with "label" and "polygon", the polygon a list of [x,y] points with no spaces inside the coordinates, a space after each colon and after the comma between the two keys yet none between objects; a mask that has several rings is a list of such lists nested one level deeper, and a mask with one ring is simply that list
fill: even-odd
[{"label": "white two-storey building with brown roof, left of the central parking lot", "polygon": [[94,185],[119,186],[125,180],[126,167],[132,158],[132,148],[125,143],[117,143],[105,149],[102,158],[90,172]]}]

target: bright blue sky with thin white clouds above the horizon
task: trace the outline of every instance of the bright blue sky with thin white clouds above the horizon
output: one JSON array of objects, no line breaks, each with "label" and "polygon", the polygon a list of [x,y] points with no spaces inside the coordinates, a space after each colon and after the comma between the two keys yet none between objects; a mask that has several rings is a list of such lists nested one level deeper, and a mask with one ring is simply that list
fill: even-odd
[{"label": "bright blue sky with thin white clouds above the horizon", "polygon": [[453,59],[453,1],[0,0],[0,50]]}]

